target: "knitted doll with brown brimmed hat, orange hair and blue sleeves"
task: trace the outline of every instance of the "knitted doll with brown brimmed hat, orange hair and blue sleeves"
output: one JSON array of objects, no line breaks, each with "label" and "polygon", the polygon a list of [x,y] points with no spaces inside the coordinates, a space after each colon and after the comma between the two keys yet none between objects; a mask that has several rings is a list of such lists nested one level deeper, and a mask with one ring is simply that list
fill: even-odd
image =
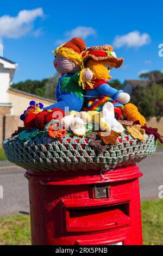
[{"label": "knitted doll with brown brimmed hat, orange hair and blue sleeves", "polygon": [[[115,112],[123,108],[130,100],[130,96],[123,90],[116,90],[109,86],[109,72],[112,68],[119,68],[123,63],[123,58],[117,58],[110,45],[95,46],[87,48],[82,54],[83,63],[86,68],[93,72],[91,80],[93,86],[85,84],[85,94],[87,97],[85,110],[101,111],[105,102],[110,101],[115,107]],[[118,113],[120,119],[121,113]]]}]

